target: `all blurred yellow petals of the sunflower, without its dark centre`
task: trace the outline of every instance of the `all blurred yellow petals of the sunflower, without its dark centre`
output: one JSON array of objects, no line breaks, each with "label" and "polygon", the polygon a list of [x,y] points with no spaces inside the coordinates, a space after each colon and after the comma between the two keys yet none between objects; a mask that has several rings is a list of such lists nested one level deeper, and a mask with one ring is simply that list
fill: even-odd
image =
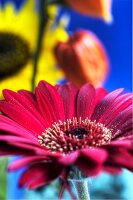
[{"label": "all blurred yellow petals of the sunflower, without its dark centre", "polygon": [[[67,25],[66,19],[61,19],[59,24],[55,26],[55,18],[57,15],[57,7],[48,8],[50,19],[48,21],[46,31],[42,43],[42,51],[38,61],[38,69],[36,74],[36,84],[45,79],[55,84],[62,78],[62,72],[56,67],[56,61],[53,55],[53,48],[57,41],[66,41],[68,36],[65,31]],[[1,23],[2,19],[2,23]],[[13,23],[14,22],[14,23]],[[26,1],[26,4],[20,11],[15,11],[12,4],[6,4],[5,8],[0,9],[0,32],[10,32],[24,38],[32,50],[35,50],[38,36],[39,16],[35,10],[34,1]],[[33,75],[33,60],[29,62],[18,73],[4,80],[0,80],[0,98],[1,91],[4,88],[19,90],[31,89],[31,80]]]}]

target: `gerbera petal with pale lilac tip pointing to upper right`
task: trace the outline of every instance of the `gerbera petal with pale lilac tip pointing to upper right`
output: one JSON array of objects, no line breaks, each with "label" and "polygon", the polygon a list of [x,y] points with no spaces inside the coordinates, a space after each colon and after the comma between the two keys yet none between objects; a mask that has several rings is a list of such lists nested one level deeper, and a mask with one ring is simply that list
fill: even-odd
[{"label": "gerbera petal with pale lilac tip pointing to upper right", "polygon": [[109,109],[114,100],[122,93],[123,89],[115,90],[107,94],[96,106],[94,113],[91,117],[92,120],[99,120],[101,116]]}]

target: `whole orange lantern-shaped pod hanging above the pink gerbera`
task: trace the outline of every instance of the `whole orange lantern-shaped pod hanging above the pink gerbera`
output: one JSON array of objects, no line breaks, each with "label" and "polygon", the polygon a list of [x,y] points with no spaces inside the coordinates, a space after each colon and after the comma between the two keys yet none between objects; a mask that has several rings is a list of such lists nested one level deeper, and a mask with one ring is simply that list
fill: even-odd
[{"label": "whole orange lantern-shaped pod hanging above the pink gerbera", "polygon": [[59,67],[66,78],[78,87],[89,82],[97,87],[108,71],[106,52],[98,38],[89,31],[72,34],[67,42],[59,42],[54,49]]}]

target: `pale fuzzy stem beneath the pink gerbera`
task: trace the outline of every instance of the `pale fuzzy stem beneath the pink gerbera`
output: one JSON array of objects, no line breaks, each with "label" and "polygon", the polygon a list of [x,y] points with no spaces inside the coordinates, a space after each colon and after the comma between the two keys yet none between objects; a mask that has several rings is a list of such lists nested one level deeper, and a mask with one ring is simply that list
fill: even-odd
[{"label": "pale fuzzy stem beneath the pink gerbera", "polygon": [[70,180],[74,189],[76,191],[77,199],[78,200],[90,200],[90,195],[88,191],[88,180]]}]

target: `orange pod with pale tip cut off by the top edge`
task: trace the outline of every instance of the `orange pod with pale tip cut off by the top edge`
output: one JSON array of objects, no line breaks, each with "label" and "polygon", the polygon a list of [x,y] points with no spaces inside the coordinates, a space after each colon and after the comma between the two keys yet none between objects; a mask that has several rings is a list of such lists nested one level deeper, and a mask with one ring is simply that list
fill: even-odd
[{"label": "orange pod with pale tip cut off by the top edge", "polygon": [[93,17],[101,17],[105,21],[110,22],[112,0],[65,0],[66,3],[75,11],[90,15]]}]

